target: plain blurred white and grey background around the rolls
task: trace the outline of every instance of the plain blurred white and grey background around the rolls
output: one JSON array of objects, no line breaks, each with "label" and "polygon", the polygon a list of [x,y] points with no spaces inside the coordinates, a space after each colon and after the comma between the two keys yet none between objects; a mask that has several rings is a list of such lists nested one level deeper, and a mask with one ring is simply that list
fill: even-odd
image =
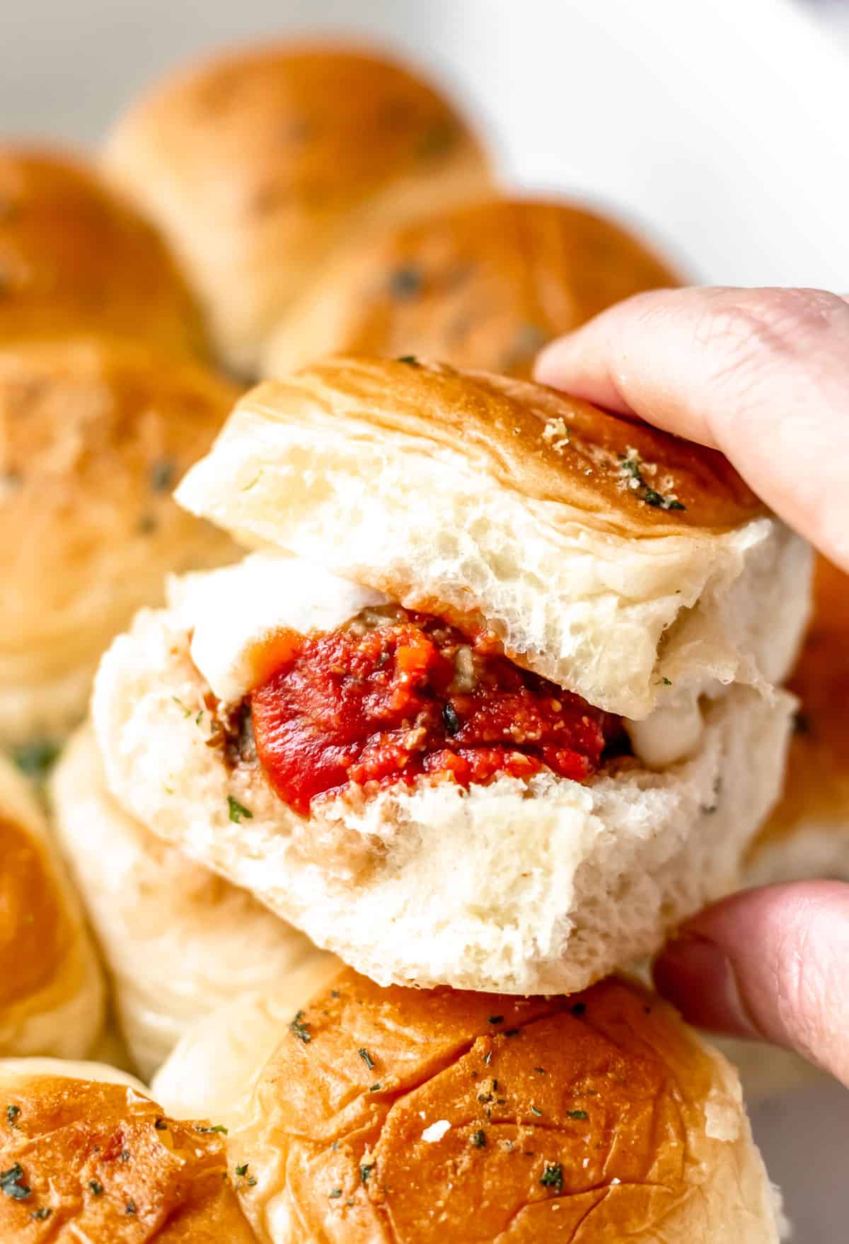
[{"label": "plain blurred white and grey background around the rolls", "polygon": [[[27,0],[0,15],[1,128],[94,144],[199,51],[316,30],[421,63],[505,182],[613,208],[695,280],[849,289],[843,0]],[[755,1111],[799,1244],[847,1240],[848,1101]]]}]

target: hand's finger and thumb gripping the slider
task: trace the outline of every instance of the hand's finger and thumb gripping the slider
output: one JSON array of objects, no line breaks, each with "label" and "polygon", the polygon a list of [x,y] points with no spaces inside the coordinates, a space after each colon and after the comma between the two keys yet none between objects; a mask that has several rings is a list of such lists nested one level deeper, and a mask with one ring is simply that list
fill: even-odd
[{"label": "hand's finger and thumb gripping the slider", "polygon": [[[629,299],[548,346],[536,378],[721,449],[849,571],[849,300],[687,289]],[[849,884],[743,891],[660,954],[659,990],[714,1031],[796,1049],[849,1085]]]}]

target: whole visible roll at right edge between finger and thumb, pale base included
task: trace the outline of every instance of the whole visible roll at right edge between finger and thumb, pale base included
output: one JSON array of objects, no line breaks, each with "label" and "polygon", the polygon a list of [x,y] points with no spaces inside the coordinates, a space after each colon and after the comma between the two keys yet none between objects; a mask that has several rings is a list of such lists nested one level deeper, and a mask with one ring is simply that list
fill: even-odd
[{"label": "whole visible roll at right edge between finger and thumb, pale base included", "polygon": [[750,884],[849,881],[849,577],[817,561],[814,616],[789,685],[799,697],[784,791],[755,840]]}]

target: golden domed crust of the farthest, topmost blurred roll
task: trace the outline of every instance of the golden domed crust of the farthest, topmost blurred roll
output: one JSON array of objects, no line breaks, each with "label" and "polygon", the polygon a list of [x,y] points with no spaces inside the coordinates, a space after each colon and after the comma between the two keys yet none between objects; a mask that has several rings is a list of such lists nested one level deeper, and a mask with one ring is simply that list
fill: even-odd
[{"label": "golden domed crust of the farthest, topmost blurred roll", "polygon": [[334,46],[230,52],[158,85],[118,123],[124,142],[155,137],[208,214],[283,213],[353,200],[405,165],[438,165],[472,143],[426,82],[379,56]]}]

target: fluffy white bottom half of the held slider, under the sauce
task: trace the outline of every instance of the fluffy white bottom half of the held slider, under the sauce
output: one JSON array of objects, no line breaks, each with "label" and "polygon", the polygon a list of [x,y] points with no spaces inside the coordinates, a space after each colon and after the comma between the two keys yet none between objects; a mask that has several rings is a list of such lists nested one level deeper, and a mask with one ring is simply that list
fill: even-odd
[{"label": "fluffy white bottom half of the held slider, under the sauce", "polygon": [[625,758],[587,785],[419,782],[305,819],[206,745],[206,693],[174,613],[140,613],[106,654],[93,719],[127,814],[380,984],[510,994],[585,988],[738,883],[793,707],[732,687],[664,771]]}]

